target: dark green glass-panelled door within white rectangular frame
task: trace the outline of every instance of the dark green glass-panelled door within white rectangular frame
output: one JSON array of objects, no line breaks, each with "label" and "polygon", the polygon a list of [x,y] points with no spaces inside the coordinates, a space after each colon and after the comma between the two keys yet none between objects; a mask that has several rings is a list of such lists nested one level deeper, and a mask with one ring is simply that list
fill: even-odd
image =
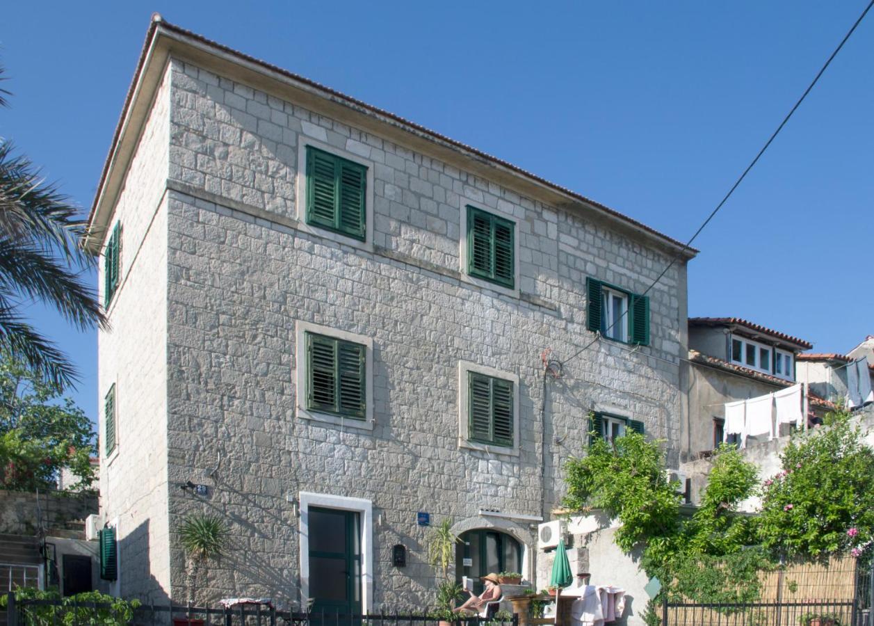
[{"label": "dark green glass-panelled door within white rectangular frame", "polygon": [[[326,619],[361,613],[361,522],[355,511],[309,507],[309,597]],[[348,623],[348,622],[347,622]]]}]

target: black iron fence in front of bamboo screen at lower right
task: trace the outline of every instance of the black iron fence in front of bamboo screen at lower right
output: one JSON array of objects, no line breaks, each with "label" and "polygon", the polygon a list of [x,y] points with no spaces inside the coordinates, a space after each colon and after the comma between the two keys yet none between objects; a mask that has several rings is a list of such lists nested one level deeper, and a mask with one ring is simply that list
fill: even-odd
[{"label": "black iron fence in front of bamboo screen at lower right", "polygon": [[859,602],[663,602],[663,626],[874,626]]}]

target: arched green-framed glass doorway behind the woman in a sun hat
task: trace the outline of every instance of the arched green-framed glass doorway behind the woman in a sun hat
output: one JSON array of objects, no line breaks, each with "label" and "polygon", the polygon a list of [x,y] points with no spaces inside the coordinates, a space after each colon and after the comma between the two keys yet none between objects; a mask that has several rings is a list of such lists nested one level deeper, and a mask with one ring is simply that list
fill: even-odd
[{"label": "arched green-framed glass doorway behind the woman in a sun hat", "polygon": [[522,546],[506,532],[477,528],[461,533],[455,548],[455,577],[474,579],[474,593],[482,593],[481,576],[489,572],[521,572]]}]

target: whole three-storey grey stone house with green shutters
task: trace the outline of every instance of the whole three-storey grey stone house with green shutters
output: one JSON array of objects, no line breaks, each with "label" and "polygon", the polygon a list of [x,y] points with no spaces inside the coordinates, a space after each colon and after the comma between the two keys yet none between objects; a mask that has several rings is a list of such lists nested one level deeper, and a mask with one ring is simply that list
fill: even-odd
[{"label": "whole three-storey grey stone house with green shutters", "polygon": [[[420,513],[457,576],[533,578],[590,410],[678,459],[694,250],[159,18],[90,224],[115,593],[183,599],[177,528],[214,511],[203,598],[421,609]],[[552,379],[545,348],[579,354]]]}]

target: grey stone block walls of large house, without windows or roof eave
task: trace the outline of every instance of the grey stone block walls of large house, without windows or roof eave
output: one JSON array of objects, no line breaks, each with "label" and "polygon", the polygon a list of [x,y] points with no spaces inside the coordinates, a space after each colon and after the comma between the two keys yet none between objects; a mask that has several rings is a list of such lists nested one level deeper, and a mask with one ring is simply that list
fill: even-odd
[{"label": "grey stone block walls of large house, without windows or roof eave", "polygon": [[[364,608],[420,609],[435,583],[418,511],[513,535],[533,580],[531,522],[558,504],[589,410],[643,421],[676,460],[685,261],[649,292],[649,346],[601,340],[546,385],[541,363],[592,340],[587,276],[641,293],[669,247],[205,65],[170,56],[109,222],[124,227],[123,282],[101,332],[101,393],[116,382],[120,452],[101,467],[101,506],[119,520],[122,595],[184,598],[176,529],[214,511],[232,537],[202,597],[295,605],[306,506],[356,498]],[[363,243],[303,223],[308,143],[367,163]],[[468,203],[516,224],[516,289],[461,271]],[[303,418],[301,324],[369,338],[371,422]],[[460,441],[462,363],[517,377],[516,449]],[[406,567],[392,566],[396,544]]]}]

